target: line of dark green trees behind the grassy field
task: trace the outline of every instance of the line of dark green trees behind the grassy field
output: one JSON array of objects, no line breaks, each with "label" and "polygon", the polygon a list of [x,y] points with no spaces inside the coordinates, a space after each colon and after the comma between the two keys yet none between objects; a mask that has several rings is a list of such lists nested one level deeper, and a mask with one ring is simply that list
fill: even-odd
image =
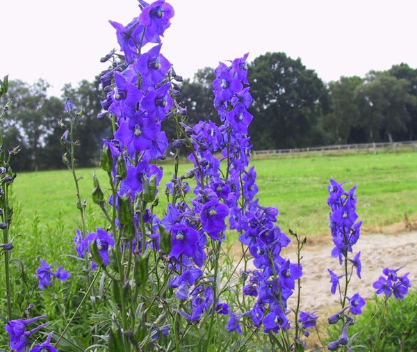
[{"label": "line of dark green trees behind the grassy field", "polygon": [[[325,84],[300,58],[267,53],[248,64],[254,120],[249,135],[254,150],[314,147],[331,144],[408,141],[417,138],[417,70],[406,63],[391,69],[370,71],[366,77],[341,77]],[[213,69],[198,70],[181,84],[182,105],[188,124],[218,121],[213,106]],[[111,125],[98,120],[105,99],[100,77],[67,84],[62,96],[48,97],[43,79],[33,85],[10,81],[8,96],[13,109],[3,118],[4,143],[19,145],[16,170],[61,168],[63,134],[58,120],[65,99],[70,97],[83,114],[76,124],[80,167],[99,160],[102,139],[111,135]],[[165,122],[169,140],[176,138],[172,124]]]}]

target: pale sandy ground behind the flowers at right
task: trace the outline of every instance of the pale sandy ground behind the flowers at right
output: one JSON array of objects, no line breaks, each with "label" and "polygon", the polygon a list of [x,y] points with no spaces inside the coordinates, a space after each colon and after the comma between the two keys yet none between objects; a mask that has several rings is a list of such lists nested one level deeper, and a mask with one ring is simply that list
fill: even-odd
[{"label": "pale sandy ground behind the flowers at right", "polygon": [[[327,269],[334,273],[343,274],[343,267],[338,259],[330,255],[333,245],[316,243],[305,246],[302,250],[302,291],[300,299],[301,310],[320,311],[328,310],[338,304],[338,291],[333,296],[330,292],[330,277]],[[356,273],[352,275],[347,296],[359,292],[363,298],[371,298],[375,292],[373,282],[378,280],[382,269],[389,267],[397,269],[405,266],[399,274],[409,272],[411,287],[416,287],[417,277],[417,232],[400,234],[361,234],[359,241],[353,248],[353,255],[361,251],[362,273],[361,280]],[[296,262],[294,248],[286,248],[283,257]],[[352,257],[353,257],[352,255]],[[252,268],[253,269],[253,268]],[[296,306],[297,295],[294,294],[288,301],[289,307]]]}]

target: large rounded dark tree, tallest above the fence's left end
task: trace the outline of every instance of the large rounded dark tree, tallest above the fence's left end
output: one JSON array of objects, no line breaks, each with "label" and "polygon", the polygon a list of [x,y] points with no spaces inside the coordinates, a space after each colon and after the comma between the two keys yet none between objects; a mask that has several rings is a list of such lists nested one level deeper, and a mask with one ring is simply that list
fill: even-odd
[{"label": "large rounded dark tree, tallest above the fence's left end", "polygon": [[325,84],[300,58],[267,53],[250,64],[250,136],[256,149],[321,144],[318,118],[329,107]]}]

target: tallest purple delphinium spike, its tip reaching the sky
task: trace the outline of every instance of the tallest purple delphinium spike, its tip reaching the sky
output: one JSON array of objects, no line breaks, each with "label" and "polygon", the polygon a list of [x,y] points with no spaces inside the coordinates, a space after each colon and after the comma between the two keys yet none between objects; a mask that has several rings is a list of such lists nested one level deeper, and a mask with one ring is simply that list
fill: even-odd
[{"label": "tallest purple delphinium spike, its tip reaching the sky", "polygon": [[[138,198],[147,198],[145,192],[152,182],[157,192],[163,173],[154,161],[165,159],[168,146],[161,124],[178,111],[173,107],[172,96],[178,93],[174,80],[181,80],[161,54],[161,37],[174,15],[172,6],[163,0],[139,3],[142,12],[126,26],[110,21],[124,56],[112,52],[102,59],[112,59],[113,63],[101,74],[106,99],[101,102],[103,111],[99,114],[99,118],[115,119],[114,138],[104,140],[101,166],[112,175],[117,190],[109,199],[119,210],[115,230],[127,232],[129,227],[133,236],[124,236],[122,244],[136,250],[136,254],[144,253],[147,248],[159,249],[158,218],[151,216],[149,209],[142,209],[131,218],[126,213],[133,214],[133,204]],[[144,51],[144,47],[150,48]],[[116,57],[122,59],[117,61]],[[147,224],[149,233],[140,231],[140,221]],[[115,234],[101,228],[85,237],[77,230],[74,242],[79,257],[85,257],[85,253],[92,255],[92,269],[109,265],[109,248],[117,245]]]}]

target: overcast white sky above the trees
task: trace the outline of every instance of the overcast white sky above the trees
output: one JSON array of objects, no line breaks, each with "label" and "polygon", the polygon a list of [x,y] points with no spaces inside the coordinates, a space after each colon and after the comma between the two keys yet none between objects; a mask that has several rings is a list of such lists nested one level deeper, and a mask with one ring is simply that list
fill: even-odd
[{"label": "overcast white sky above the trees", "polygon": [[[325,82],[363,77],[394,64],[417,67],[414,0],[167,0],[176,15],[163,54],[177,74],[193,77],[250,52],[284,51]],[[0,77],[39,77],[60,95],[64,83],[91,81],[117,47],[112,19],[127,24],[136,0],[0,0]]]}]

